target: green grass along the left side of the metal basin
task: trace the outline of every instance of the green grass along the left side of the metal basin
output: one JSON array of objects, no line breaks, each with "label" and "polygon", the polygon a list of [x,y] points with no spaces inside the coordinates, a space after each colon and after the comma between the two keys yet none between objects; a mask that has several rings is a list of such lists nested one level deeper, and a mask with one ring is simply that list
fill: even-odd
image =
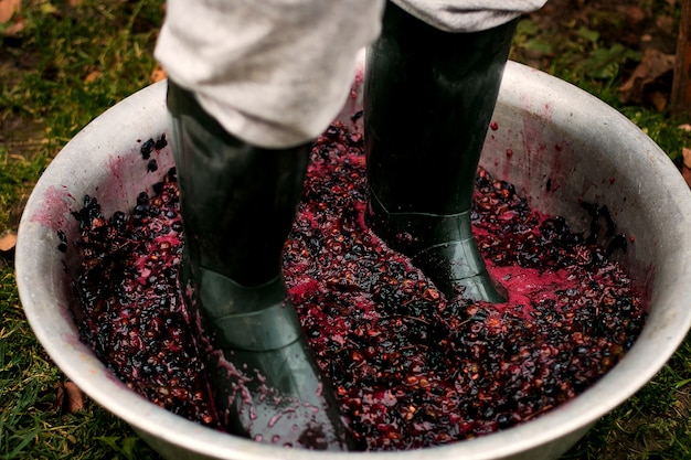
[{"label": "green grass along the left side of the metal basin", "polygon": [[[17,231],[21,204],[65,142],[149,84],[163,10],[161,1],[32,1],[23,15],[23,31],[0,49],[0,117],[21,131],[2,133],[0,232]],[[11,258],[0,258],[0,459],[158,458],[93,402],[78,414],[54,407],[65,376],[26,323]]]}]

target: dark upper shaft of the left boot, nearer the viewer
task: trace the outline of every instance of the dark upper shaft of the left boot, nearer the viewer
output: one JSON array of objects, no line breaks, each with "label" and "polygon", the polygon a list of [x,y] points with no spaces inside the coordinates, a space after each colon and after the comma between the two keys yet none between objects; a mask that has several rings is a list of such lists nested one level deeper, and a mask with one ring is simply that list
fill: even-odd
[{"label": "dark upper shaft of the left boot, nearer the viewer", "polygon": [[247,145],[174,82],[169,82],[168,106],[191,265],[242,286],[274,279],[280,274],[310,146],[273,150]]}]

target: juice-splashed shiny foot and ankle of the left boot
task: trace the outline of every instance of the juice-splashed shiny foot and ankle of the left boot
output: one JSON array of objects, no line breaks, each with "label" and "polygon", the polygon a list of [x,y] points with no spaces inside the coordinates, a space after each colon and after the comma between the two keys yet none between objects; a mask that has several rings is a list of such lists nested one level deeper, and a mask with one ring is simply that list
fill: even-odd
[{"label": "juice-splashed shiny foot and ankle of the left boot", "polygon": [[[194,299],[206,312],[201,324],[211,339],[209,374],[223,426],[262,442],[347,450],[338,404],[307,346],[283,278],[245,288],[202,270],[198,285]],[[226,311],[210,313],[203,307],[221,299]],[[244,311],[247,304],[254,307]]]}]

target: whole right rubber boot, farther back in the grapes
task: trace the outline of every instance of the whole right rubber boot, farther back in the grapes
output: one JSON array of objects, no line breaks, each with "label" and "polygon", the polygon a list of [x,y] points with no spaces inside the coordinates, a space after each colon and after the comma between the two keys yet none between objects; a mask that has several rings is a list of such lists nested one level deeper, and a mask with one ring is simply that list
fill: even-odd
[{"label": "whole right rubber boot, farther back in the grapes", "polygon": [[470,228],[475,175],[515,21],[448,33],[392,2],[365,65],[368,218],[447,298],[504,301]]}]

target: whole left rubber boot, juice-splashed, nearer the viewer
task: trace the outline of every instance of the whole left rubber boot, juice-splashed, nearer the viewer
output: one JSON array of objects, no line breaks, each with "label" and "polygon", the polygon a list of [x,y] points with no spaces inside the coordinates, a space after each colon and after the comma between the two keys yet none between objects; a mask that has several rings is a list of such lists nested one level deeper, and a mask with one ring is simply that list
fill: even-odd
[{"label": "whole left rubber boot, juice-splashed, nearer the viewer", "polygon": [[264,442],[347,450],[338,404],[281,275],[310,146],[249,146],[173,82],[168,108],[185,236],[181,286],[210,340],[222,425]]}]

